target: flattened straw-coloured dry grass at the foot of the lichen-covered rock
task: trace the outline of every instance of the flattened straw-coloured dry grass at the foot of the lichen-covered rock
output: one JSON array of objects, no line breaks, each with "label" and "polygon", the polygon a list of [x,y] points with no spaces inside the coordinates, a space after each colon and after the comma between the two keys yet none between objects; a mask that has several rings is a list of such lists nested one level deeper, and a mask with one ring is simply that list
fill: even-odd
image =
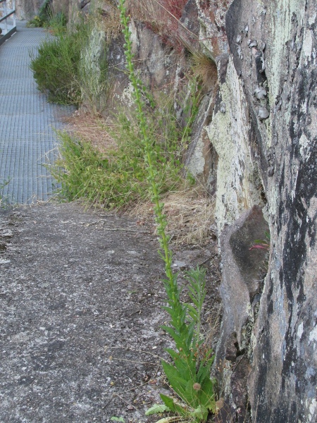
[{"label": "flattened straw-coloured dry grass at the foot of the lichen-covered rock", "polygon": [[[204,245],[209,241],[214,223],[214,202],[203,188],[190,188],[169,192],[162,198],[166,214],[167,233],[174,245]],[[137,204],[130,216],[137,216],[139,224],[153,219],[151,202]]]}]

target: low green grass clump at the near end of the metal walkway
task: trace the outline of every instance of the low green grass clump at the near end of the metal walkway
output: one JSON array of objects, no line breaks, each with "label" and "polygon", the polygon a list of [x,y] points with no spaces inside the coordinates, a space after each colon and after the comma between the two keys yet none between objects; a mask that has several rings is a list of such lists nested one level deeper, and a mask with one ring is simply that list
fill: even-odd
[{"label": "low green grass clump at the near end of the metal walkway", "polygon": [[[180,183],[182,164],[178,146],[182,130],[171,116],[166,119],[155,116],[149,117],[148,128],[151,128],[155,181],[163,193]],[[90,142],[59,133],[61,159],[52,166],[51,173],[61,183],[67,200],[82,198],[113,209],[151,198],[144,146],[133,118],[128,120],[119,114],[116,131],[112,129],[111,135],[116,140],[116,148],[108,148],[103,153]]]}]

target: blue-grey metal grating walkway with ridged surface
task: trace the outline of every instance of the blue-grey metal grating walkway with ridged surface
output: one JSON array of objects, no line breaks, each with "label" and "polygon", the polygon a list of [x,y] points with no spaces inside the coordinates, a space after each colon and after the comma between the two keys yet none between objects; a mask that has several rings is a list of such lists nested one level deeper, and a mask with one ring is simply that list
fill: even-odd
[{"label": "blue-grey metal grating walkway with ridged surface", "polygon": [[54,180],[44,163],[54,160],[61,118],[72,109],[46,102],[30,71],[30,53],[47,37],[41,28],[17,23],[0,47],[0,195],[9,204],[46,201]]}]

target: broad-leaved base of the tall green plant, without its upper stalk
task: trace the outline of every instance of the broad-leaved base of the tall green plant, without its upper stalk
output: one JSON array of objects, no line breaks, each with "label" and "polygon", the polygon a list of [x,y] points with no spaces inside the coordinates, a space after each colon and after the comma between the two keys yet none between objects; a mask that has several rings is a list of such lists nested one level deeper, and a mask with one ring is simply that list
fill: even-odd
[{"label": "broad-leaved base of the tall green plant, without its upper stalk", "polygon": [[168,281],[164,283],[168,306],[163,308],[170,314],[170,326],[163,326],[163,329],[175,341],[177,351],[167,349],[173,364],[163,361],[162,365],[171,388],[183,404],[163,394],[161,399],[170,411],[190,417],[194,422],[206,421],[209,412],[214,412],[216,407],[216,381],[210,377],[213,355],[206,348],[201,335],[201,312],[206,295],[205,276],[206,271],[198,267],[187,272],[192,304],[180,301],[181,289],[178,287],[177,274],[173,274],[173,286]]}]

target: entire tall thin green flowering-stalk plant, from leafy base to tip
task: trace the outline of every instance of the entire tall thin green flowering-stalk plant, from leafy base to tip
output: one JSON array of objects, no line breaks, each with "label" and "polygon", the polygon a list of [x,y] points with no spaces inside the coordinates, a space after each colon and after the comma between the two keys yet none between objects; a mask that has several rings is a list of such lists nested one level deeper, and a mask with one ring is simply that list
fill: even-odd
[{"label": "entire tall thin green flowering-stalk plant, from leafy base to tip", "polygon": [[[215,412],[214,398],[215,381],[210,377],[213,356],[206,350],[201,336],[201,311],[205,296],[205,272],[195,269],[187,274],[189,281],[189,298],[192,304],[185,304],[180,300],[181,288],[178,286],[178,274],[172,271],[172,252],[169,238],[166,235],[166,216],[163,214],[163,204],[160,202],[159,189],[156,184],[155,157],[153,154],[149,126],[144,110],[146,106],[142,98],[142,81],[137,78],[133,65],[132,42],[130,40],[129,18],[125,9],[125,0],[119,0],[121,23],[125,37],[125,58],[128,75],[133,87],[139,133],[142,137],[149,186],[152,201],[155,204],[157,231],[161,250],[159,254],[165,263],[166,279],[163,281],[167,293],[168,305],[164,307],[170,315],[170,325],[163,326],[175,341],[176,350],[168,349],[172,363],[163,360],[162,365],[168,382],[177,394],[179,400],[161,394],[163,407],[156,405],[148,410],[148,414],[163,411],[177,413],[178,417],[168,417],[161,422],[185,418],[191,422],[206,422],[209,412]],[[159,410],[159,411],[158,411]]]}]

